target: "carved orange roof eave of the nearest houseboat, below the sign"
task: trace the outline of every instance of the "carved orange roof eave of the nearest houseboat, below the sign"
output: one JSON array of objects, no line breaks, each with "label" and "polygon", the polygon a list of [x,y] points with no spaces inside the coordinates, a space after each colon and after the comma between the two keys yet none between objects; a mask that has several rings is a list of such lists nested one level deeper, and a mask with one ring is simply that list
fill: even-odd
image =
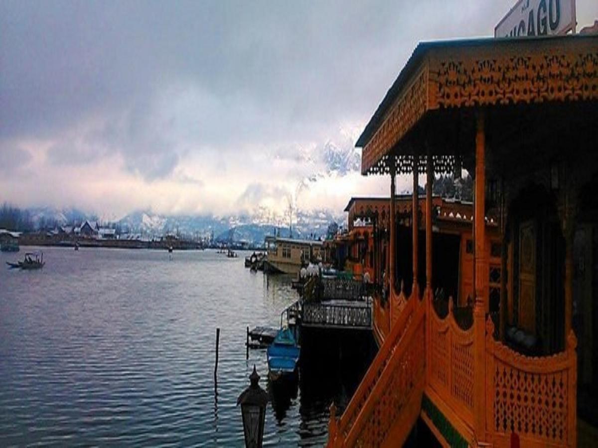
[{"label": "carved orange roof eave of the nearest houseboat, below the sign", "polygon": [[[419,44],[356,143],[361,171],[410,171],[401,143],[429,111],[587,100],[598,100],[598,36]],[[436,172],[448,168],[434,158]]]}]

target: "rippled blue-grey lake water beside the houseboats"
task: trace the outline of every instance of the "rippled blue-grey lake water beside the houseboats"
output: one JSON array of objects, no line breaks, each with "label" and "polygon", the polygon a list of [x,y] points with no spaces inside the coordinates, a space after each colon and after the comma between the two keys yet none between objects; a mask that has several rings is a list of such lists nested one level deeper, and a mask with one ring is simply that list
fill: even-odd
[{"label": "rippled blue-grey lake water beside the houseboats", "polygon": [[254,364],[271,397],[264,445],[319,446],[332,398],[363,373],[302,352],[298,387],[271,388],[245,327],[277,327],[298,297],[243,253],[43,248],[41,271],[7,269],[30,249],[0,253],[0,446],[243,446],[236,400]]}]

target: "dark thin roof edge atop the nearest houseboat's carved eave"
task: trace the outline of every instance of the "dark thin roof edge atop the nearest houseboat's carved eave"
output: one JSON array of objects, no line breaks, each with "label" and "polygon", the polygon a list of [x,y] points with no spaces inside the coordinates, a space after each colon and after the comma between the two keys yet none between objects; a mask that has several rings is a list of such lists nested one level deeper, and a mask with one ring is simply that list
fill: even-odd
[{"label": "dark thin roof edge atop the nearest houseboat's carved eave", "polygon": [[357,148],[364,148],[365,145],[370,142],[370,139],[376,133],[376,130],[380,127],[386,113],[389,111],[392,103],[395,102],[401,91],[407,87],[407,80],[410,79],[411,75],[419,69],[420,62],[424,59],[429,50],[434,48],[459,48],[459,47],[489,47],[490,45],[529,45],[530,42],[547,41],[551,39],[557,41],[560,39],[587,39],[595,38],[592,35],[565,35],[565,36],[535,36],[535,37],[524,37],[524,38],[474,38],[474,39],[453,39],[447,41],[429,41],[420,42],[417,44],[415,50],[411,54],[411,57],[407,60],[407,63],[392,83],[382,103],[374,112],[374,115],[370,118],[370,122],[365,126],[364,131],[355,143]]}]

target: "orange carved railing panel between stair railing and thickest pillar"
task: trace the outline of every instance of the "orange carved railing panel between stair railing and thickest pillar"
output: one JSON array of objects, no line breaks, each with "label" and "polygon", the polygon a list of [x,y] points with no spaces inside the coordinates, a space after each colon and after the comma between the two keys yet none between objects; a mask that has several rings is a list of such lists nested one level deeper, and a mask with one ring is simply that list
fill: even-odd
[{"label": "orange carved railing panel between stair railing and thickest pillar", "polygon": [[448,314],[440,318],[429,305],[428,363],[426,379],[436,392],[471,428],[474,425],[474,331],[459,327],[449,299]]}]

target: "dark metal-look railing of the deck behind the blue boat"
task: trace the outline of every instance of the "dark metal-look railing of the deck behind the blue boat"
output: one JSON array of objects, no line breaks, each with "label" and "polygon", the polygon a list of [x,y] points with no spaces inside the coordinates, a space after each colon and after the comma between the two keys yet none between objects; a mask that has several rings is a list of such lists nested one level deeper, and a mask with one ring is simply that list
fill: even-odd
[{"label": "dark metal-look railing of the deck behind the blue boat", "polygon": [[328,302],[304,302],[301,315],[304,326],[371,329],[371,306],[337,305]]}]

